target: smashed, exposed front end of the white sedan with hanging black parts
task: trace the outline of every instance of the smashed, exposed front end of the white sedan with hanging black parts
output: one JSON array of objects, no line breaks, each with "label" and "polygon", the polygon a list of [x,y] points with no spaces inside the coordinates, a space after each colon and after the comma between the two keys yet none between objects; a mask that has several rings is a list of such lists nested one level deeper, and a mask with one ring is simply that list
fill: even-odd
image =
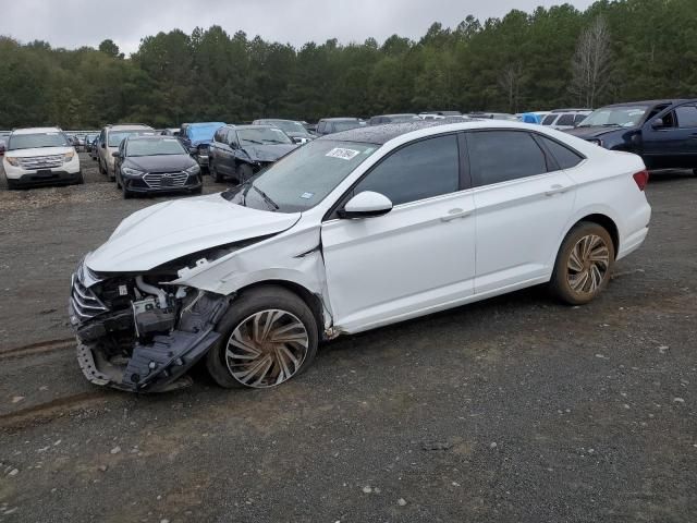
[{"label": "smashed, exposed front end of the white sedan with hanging black parts", "polygon": [[191,385],[185,374],[219,340],[231,296],[162,283],[172,276],[96,275],[81,264],[69,317],[89,381],[132,392]]}]

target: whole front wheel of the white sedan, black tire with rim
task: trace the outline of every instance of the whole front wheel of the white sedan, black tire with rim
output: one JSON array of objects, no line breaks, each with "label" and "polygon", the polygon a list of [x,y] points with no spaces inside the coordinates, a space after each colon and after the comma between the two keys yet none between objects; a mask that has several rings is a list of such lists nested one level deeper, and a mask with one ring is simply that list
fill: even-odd
[{"label": "whole front wheel of the white sedan, black tire with rim", "polygon": [[[255,320],[261,336],[254,336]],[[267,327],[270,331],[265,335]],[[317,323],[307,304],[277,285],[243,292],[216,330],[222,337],[208,352],[206,367],[216,382],[228,389],[265,389],[294,378],[313,363],[319,342]],[[276,338],[269,338],[277,331]],[[294,341],[279,341],[290,336]],[[256,372],[255,365],[260,365]]]}]

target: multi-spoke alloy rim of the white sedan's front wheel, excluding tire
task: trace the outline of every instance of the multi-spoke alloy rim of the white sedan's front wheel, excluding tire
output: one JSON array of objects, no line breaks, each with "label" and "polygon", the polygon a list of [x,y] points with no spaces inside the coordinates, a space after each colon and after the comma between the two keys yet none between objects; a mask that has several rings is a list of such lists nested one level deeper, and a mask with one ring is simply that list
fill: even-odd
[{"label": "multi-spoke alloy rim of the white sedan's front wheel, excluding tire", "polygon": [[274,387],[298,373],[308,348],[307,329],[295,315],[267,309],[234,328],[225,363],[232,377],[246,387]]}]

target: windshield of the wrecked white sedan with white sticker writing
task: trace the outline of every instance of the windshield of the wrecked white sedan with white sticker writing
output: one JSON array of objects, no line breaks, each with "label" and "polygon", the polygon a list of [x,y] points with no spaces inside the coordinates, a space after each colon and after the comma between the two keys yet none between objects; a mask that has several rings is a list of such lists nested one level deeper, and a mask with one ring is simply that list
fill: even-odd
[{"label": "windshield of the wrecked white sedan with white sticker writing", "polygon": [[310,142],[246,184],[223,193],[223,197],[256,209],[302,212],[325,199],[378,147],[354,142]]}]

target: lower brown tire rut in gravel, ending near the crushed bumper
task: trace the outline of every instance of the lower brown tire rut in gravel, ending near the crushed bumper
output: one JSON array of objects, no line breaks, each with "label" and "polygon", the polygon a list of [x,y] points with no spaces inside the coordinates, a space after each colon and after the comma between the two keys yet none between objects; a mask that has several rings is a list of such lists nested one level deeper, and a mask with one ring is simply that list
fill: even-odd
[{"label": "lower brown tire rut in gravel, ending near the crushed bumper", "polygon": [[51,422],[71,412],[106,402],[109,396],[90,391],[66,396],[35,406],[0,415],[0,431],[17,431],[34,425]]}]

